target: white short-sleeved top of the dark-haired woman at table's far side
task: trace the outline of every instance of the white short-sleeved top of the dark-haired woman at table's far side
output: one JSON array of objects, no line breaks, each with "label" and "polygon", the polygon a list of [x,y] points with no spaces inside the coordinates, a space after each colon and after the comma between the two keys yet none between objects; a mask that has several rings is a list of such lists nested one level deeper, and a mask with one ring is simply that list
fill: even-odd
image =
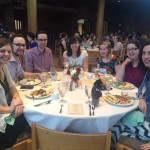
[{"label": "white short-sleeved top of the dark-haired woman at table's far side", "polygon": [[88,56],[87,51],[82,50],[79,57],[73,58],[72,56],[67,56],[67,51],[63,53],[63,57],[68,59],[70,65],[83,66],[84,58]]}]

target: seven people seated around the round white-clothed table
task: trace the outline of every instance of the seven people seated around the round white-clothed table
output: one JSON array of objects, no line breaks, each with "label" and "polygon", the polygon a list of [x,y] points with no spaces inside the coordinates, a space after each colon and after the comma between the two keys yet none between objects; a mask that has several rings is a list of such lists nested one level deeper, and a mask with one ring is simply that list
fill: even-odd
[{"label": "seven people seated around the round white-clothed table", "polygon": [[[23,78],[39,78],[41,72],[49,72],[53,66],[52,50],[47,47],[48,36],[46,32],[39,31],[35,37],[29,33],[32,40],[35,38],[36,45],[30,45],[26,50],[26,40],[20,34],[13,35],[10,40],[0,39],[0,116],[6,113],[12,114],[15,118],[13,126],[7,125],[4,132],[0,132],[0,149],[12,146],[18,135],[28,126],[23,116],[23,102],[15,88],[15,82]],[[62,37],[63,40],[66,35]],[[70,65],[79,65],[85,72],[88,71],[88,52],[81,49],[81,39],[73,35],[69,38],[63,51],[63,60]],[[126,43],[126,59],[121,63],[120,59],[113,55],[110,41],[103,41],[99,45],[100,55],[95,60],[99,69],[105,70],[105,73],[112,74],[118,81],[129,82],[139,88],[139,109],[146,116],[146,124],[135,127],[128,133],[134,134],[135,138],[150,141],[150,42],[141,47],[138,40],[130,40]],[[25,70],[19,60],[24,56]],[[147,113],[148,112],[148,113]],[[121,126],[123,124],[119,122]],[[123,129],[123,128],[122,128]],[[112,129],[112,131],[115,131]],[[123,132],[124,130],[122,130]],[[145,134],[147,133],[147,134]],[[130,134],[130,136],[131,136]],[[127,135],[128,136],[128,135]],[[119,136],[117,137],[119,138]],[[150,149],[150,144],[144,144],[143,150]]]}]

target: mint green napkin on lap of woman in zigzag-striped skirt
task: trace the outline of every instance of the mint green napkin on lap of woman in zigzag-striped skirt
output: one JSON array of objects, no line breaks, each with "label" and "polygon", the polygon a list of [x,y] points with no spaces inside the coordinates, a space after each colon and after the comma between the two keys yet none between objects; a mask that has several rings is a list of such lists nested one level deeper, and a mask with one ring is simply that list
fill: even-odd
[{"label": "mint green napkin on lap of woman in zigzag-striped skirt", "polygon": [[122,123],[127,126],[140,126],[144,123],[144,113],[141,111],[131,111],[122,118]]}]

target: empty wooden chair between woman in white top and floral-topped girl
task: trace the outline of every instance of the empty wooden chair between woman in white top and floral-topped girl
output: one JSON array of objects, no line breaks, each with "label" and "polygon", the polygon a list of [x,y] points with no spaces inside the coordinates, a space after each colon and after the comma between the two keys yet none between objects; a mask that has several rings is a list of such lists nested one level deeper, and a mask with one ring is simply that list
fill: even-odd
[{"label": "empty wooden chair between woman in white top and floral-topped girl", "polygon": [[88,52],[88,58],[89,58],[89,71],[91,71],[91,67],[92,66],[96,66],[97,65],[97,61],[96,58],[99,57],[99,51],[87,51]]}]

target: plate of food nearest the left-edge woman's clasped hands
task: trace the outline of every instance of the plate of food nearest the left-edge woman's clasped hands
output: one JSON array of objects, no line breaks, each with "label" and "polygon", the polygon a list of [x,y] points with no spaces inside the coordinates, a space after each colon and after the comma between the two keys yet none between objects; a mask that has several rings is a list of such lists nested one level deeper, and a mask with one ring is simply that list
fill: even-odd
[{"label": "plate of food nearest the left-edge woman's clasped hands", "polygon": [[49,97],[53,93],[53,89],[38,89],[38,90],[32,90],[25,93],[25,95],[29,98],[46,98]]}]

